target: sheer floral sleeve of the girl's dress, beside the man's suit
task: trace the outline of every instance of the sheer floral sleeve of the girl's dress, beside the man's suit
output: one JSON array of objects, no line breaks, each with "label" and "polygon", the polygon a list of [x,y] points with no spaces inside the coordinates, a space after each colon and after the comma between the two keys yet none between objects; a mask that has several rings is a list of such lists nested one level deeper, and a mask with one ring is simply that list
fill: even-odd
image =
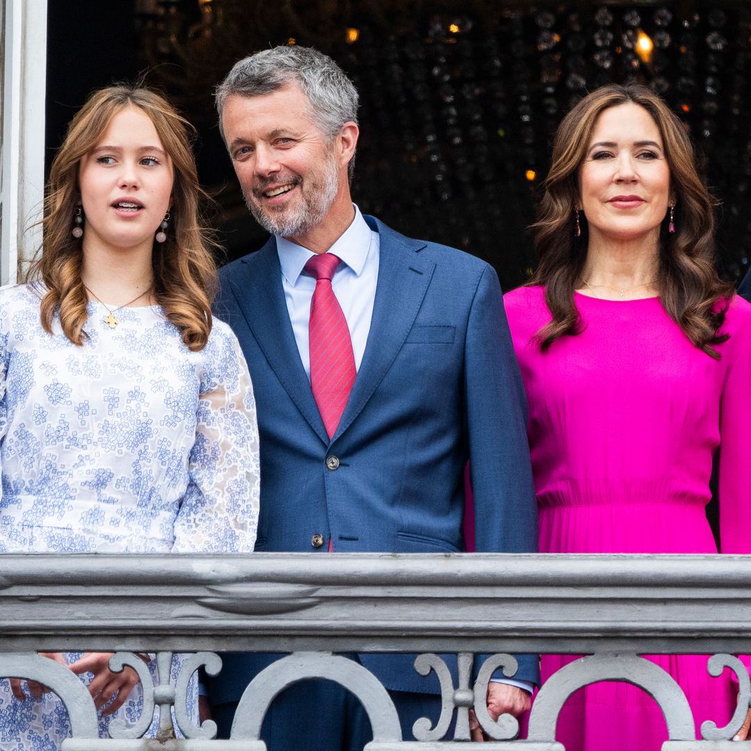
[{"label": "sheer floral sleeve of the girl's dress, beside the man's suit", "polygon": [[240,345],[214,322],[203,352],[190,482],[175,520],[176,553],[248,553],[258,526],[260,471],[253,388]]}]

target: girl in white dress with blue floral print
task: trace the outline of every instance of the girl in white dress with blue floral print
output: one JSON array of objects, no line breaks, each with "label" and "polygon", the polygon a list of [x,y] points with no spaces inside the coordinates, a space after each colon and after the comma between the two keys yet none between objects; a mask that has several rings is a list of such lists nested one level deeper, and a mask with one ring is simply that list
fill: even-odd
[{"label": "girl in white dress with blue floral print", "polygon": [[[189,130],[128,86],[95,92],[68,128],[31,281],[0,290],[0,552],[253,549],[255,402],[211,316]],[[104,737],[113,716],[137,719],[135,672],[111,672],[110,653],[48,656],[89,682]],[[0,747],[68,733],[55,695],[0,681]]]}]

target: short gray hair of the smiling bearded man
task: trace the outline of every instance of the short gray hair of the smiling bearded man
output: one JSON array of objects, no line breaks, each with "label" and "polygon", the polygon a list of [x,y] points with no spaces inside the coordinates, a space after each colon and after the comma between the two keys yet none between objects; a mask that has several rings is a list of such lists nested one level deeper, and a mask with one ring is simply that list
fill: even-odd
[{"label": "short gray hair of the smiling bearded man", "polygon": [[231,96],[258,96],[297,83],[310,101],[310,113],[329,140],[342,125],[357,122],[357,89],[342,68],[324,53],[310,47],[272,47],[235,63],[216,87],[219,125],[222,110]]}]

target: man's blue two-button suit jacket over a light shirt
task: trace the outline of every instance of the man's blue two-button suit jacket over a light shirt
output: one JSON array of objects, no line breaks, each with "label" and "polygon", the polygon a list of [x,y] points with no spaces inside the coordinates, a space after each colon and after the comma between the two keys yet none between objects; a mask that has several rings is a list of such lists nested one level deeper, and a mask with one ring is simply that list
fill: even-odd
[{"label": "man's blue two-button suit jacket over a light shirt", "polygon": [[[216,315],[240,340],[261,434],[256,550],[445,553],[464,549],[471,459],[478,551],[537,550],[526,403],[495,271],[456,249],[379,232],[363,360],[333,439],[300,362],[273,238],[228,264]],[[339,459],[327,469],[327,457]],[[502,644],[499,644],[502,649]],[[412,658],[413,659],[413,658]],[[437,691],[404,656],[360,655],[389,689]],[[268,656],[228,660],[213,703],[239,698]],[[536,659],[517,677],[536,681]],[[433,683],[436,685],[433,686]]]}]

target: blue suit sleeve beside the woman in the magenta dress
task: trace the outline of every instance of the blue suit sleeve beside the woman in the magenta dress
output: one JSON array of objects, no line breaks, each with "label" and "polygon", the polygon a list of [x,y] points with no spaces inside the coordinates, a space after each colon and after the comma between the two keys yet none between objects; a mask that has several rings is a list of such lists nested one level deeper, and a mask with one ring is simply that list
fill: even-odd
[{"label": "blue suit sleeve beside the woman in the magenta dress", "polygon": [[[465,347],[467,439],[475,495],[475,550],[536,553],[537,503],[526,437],[526,397],[496,272],[486,266]],[[478,655],[475,670],[484,660]],[[514,678],[540,682],[538,657],[516,655]],[[496,672],[494,679],[502,679]]]}]

